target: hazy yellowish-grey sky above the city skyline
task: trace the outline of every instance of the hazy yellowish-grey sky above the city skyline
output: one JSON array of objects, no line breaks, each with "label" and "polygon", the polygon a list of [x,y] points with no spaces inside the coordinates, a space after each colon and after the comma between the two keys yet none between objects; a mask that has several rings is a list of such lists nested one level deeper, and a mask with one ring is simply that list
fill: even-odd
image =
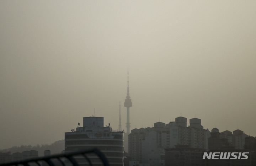
[{"label": "hazy yellowish-grey sky above the city skyline", "polygon": [[256,1],[0,1],[0,149],[104,117],[256,136]]}]

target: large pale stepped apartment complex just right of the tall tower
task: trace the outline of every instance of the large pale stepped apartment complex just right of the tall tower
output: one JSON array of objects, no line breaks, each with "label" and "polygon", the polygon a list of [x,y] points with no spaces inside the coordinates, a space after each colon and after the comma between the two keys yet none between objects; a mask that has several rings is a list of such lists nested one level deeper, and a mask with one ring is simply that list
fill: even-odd
[{"label": "large pale stepped apartment complex just right of the tall tower", "polygon": [[129,154],[131,160],[150,166],[165,165],[165,148],[187,145],[190,148],[208,148],[209,130],[203,129],[201,119],[177,117],[175,122],[154,123],[152,128],[133,129],[129,135]]}]

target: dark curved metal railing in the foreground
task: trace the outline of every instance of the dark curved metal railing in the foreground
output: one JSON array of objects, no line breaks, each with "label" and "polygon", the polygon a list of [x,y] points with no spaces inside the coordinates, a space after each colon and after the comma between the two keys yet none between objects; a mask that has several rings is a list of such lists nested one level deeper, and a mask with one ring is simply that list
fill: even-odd
[{"label": "dark curved metal railing in the foreground", "polygon": [[59,155],[51,155],[51,156],[45,156],[45,157],[38,157],[33,159],[27,159],[22,161],[15,161],[15,162],[9,162],[5,164],[0,164],[0,166],[31,166],[31,165],[38,165],[42,166],[42,161],[44,163],[47,163],[49,166],[55,166],[53,160],[58,160],[58,165],[65,166],[65,162],[62,159],[67,159],[69,163],[71,163],[73,166],[79,166],[79,163],[76,161],[75,156],[83,156],[87,162],[88,165],[93,166],[91,160],[87,156],[88,154],[96,154],[100,160],[102,161],[102,164],[104,166],[109,166],[107,158],[105,155],[98,149],[91,149],[91,150],[84,150],[84,151],[78,151],[78,152],[69,152]]}]

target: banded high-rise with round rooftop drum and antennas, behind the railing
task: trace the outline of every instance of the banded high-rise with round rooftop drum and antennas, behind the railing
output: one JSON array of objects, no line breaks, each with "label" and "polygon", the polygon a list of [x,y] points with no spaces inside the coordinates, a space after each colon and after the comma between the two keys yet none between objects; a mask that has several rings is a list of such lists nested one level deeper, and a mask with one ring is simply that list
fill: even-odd
[{"label": "banded high-rise with round rooftop drum and antennas, behind the railing", "polygon": [[[84,117],[83,127],[65,133],[65,152],[97,148],[112,166],[124,165],[123,132],[112,132],[110,123],[104,127],[103,117]],[[89,165],[84,157],[77,157],[79,165]],[[97,156],[90,156],[93,165],[102,165]],[[68,163],[66,163],[68,165]]]}]

